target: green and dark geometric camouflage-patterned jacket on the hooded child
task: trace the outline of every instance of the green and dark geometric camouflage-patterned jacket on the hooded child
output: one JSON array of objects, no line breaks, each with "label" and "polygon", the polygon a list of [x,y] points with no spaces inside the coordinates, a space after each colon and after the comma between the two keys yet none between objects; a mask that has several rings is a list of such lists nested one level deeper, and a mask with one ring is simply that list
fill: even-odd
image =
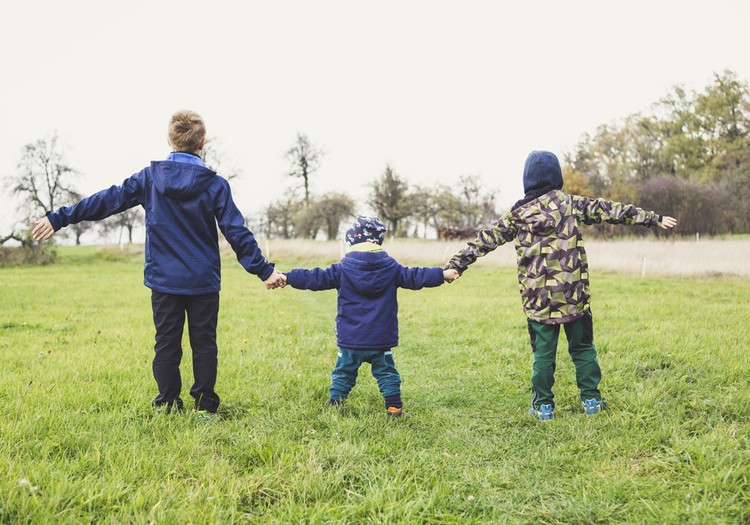
[{"label": "green and dark geometric camouflage-patterned jacket on the hooded child", "polygon": [[457,253],[446,268],[463,272],[515,239],[523,310],[544,324],[567,323],[589,309],[589,273],[579,224],[653,226],[661,217],[632,204],[553,190],[507,213]]}]

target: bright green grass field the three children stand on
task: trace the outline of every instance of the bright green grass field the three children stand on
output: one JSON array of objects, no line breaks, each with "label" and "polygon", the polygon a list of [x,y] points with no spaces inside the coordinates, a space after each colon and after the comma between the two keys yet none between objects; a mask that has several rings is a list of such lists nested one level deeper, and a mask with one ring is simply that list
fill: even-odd
[{"label": "bright green grass field the three children stand on", "polygon": [[366,369],[325,407],[335,292],[266,291],[227,259],[223,404],[203,423],[150,408],[141,267],[67,248],[0,269],[0,523],[750,522],[746,279],[594,269],[609,410],[581,413],[561,344],[550,423],[527,415],[512,268],[402,291],[406,415],[391,419]]}]

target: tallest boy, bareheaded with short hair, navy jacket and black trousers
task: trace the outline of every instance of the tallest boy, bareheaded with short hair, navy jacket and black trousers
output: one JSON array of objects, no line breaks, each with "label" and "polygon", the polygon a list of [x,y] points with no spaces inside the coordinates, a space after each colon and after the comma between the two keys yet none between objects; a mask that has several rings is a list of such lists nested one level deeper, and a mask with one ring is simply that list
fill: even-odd
[{"label": "tallest boy, bareheaded with short hair, navy jacket and black trousers", "polygon": [[221,258],[216,226],[237,260],[260,277],[267,288],[283,284],[281,274],[258,247],[235,206],[227,181],[200,158],[206,126],[193,111],[178,111],[169,122],[169,144],[174,151],[163,161],[70,207],[39,219],[34,239],[47,240],[69,224],[98,221],[134,206],[146,211],[143,283],[151,289],[156,327],[153,372],[159,395],[153,405],[166,412],[182,409],[180,360],[187,313],[195,382],[190,394],[196,412],[210,418],[219,406],[214,390],[218,350]]}]

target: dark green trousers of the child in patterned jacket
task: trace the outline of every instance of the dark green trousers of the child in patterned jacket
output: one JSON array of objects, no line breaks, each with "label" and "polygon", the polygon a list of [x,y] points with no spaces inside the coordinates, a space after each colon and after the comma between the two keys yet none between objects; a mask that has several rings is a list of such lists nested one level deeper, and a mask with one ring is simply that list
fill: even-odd
[{"label": "dark green trousers of the child in patterned jacket", "polygon": [[[528,320],[531,349],[534,352],[534,365],[531,372],[531,403],[534,408],[541,405],[555,406],[555,365],[557,361],[557,339],[560,335],[559,324],[542,324]],[[580,319],[562,325],[568,338],[568,352],[576,367],[576,382],[581,394],[581,401],[601,399],[599,382],[602,371],[596,360],[594,347],[594,327],[591,312],[586,312]]]}]

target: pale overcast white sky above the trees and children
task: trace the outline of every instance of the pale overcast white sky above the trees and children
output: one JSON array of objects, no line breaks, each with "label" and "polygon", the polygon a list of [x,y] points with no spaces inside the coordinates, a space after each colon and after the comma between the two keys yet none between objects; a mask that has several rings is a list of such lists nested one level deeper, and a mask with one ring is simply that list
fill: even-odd
[{"label": "pale overcast white sky above the trees and children", "polygon": [[531,150],[562,160],[675,85],[749,81],[749,20],[741,0],[8,2],[0,176],[56,131],[82,193],[119,184],[169,153],[168,119],[190,108],[241,170],[246,215],[295,182],[297,133],[325,151],[315,193],[364,210],[390,164],[418,184],[479,175],[507,208]]}]

